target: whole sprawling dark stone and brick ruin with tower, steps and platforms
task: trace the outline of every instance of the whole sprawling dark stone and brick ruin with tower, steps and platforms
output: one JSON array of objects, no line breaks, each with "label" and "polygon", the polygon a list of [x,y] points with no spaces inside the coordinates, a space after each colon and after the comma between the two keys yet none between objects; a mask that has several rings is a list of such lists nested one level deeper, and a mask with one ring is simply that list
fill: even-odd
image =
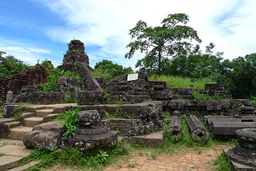
[{"label": "whole sprawling dark stone and brick ruin with tower, steps and platforms", "polygon": [[[149,81],[147,73],[138,73],[137,79],[129,81],[129,75],[104,83],[102,78],[94,77],[88,67],[89,57],[84,52],[84,43],[71,40],[64,55],[61,70],[70,70],[81,79],[60,77],[57,92],[36,92],[36,85],[46,83],[47,70],[37,64],[25,73],[0,79],[0,100],[5,101],[6,94],[12,91],[14,102],[5,103],[5,120],[0,120],[0,137],[24,140],[28,148],[40,146],[47,150],[75,147],[80,150],[95,150],[106,147],[111,149],[117,136],[123,139],[151,146],[162,146],[163,112],[169,113],[172,120],[168,124],[170,137],[180,135],[182,139],[181,116],[188,116],[187,123],[192,137],[202,141],[209,140],[209,133],[200,117],[212,131],[216,139],[236,137],[235,131],[256,127],[255,107],[246,99],[231,99],[225,94],[220,83],[205,84],[205,90],[193,88],[168,88],[165,81]],[[81,81],[82,80],[82,81]],[[104,93],[108,99],[103,103]],[[225,100],[195,100],[193,91],[209,96],[221,96]],[[64,103],[67,94],[75,94],[77,103]],[[123,105],[116,105],[121,101]],[[18,119],[6,119],[14,116],[14,107],[34,103],[47,105],[28,106],[27,112]],[[57,104],[57,105],[55,105]],[[49,122],[51,118],[68,109],[81,107],[79,127],[70,139],[62,137],[60,122]],[[118,114],[118,118],[106,118],[107,114]],[[17,127],[23,126],[23,132]],[[98,131],[97,131],[98,130]],[[114,131],[118,130],[119,135]],[[90,140],[88,136],[92,136]],[[154,135],[152,140],[148,135]],[[92,140],[93,139],[93,140]],[[98,141],[98,143],[97,143]],[[85,146],[84,144],[90,144]]]}]

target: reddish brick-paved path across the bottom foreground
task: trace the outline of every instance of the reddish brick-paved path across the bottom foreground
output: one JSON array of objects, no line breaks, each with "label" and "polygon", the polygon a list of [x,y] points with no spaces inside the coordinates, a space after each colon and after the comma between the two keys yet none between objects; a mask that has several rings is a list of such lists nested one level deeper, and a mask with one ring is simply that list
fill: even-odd
[{"label": "reddish brick-paved path across the bottom foreground", "polygon": [[157,159],[148,159],[141,153],[132,153],[128,163],[121,167],[109,166],[105,171],[114,170],[215,170],[214,160],[222,153],[223,148],[231,148],[230,146],[216,146],[212,148],[203,148],[196,151],[193,148],[185,148],[183,152],[173,155],[162,154]]}]

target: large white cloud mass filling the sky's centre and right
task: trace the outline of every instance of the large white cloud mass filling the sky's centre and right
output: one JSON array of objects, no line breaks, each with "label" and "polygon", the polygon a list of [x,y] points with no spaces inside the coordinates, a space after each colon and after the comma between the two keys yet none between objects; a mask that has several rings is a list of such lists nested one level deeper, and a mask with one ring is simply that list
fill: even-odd
[{"label": "large white cloud mass filling the sky's centre and right", "polygon": [[66,21],[64,26],[47,29],[49,38],[65,43],[75,38],[85,45],[101,47],[88,54],[92,63],[104,58],[133,67],[141,55],[124,58],[125,47],[131,41],[129,29],[139,20],[149,26],[159,25],[168,14],[179,12],[190,16],[188,25],[198,31],[203,51],[214,42],[214,51],[225,52],[229,59],[255,52],[253,0],[45,0],[44,5]]}]

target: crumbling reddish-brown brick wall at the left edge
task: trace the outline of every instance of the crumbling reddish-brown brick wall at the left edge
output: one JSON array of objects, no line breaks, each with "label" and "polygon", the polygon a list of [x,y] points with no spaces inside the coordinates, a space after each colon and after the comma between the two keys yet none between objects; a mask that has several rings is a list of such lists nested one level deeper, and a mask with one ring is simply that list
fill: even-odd
[{"label": "crumbling reddish-brown brick wall at the left edge", "polygon": [[19,94],[23,86],[36,86],[39,83],[47,83],[49,71],[40,64],[36,64],[25,73],[12,75],[7,79],[0,79],[0,101],[5,101],[6,93],[12,91],[14,95]]}]

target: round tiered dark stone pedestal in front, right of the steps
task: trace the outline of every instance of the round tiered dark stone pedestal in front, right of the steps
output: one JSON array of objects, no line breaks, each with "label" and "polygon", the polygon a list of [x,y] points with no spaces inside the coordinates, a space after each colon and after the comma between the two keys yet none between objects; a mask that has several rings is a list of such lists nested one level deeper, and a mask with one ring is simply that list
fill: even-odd
[{"label": "round tiered dark stone pedestal in front, right of the steps", "polygon": [[79,127],[75,135],[62,139],[62,146],[77,148],[82,151],[110,150],[116,145],[118,135],[101,124],[97,110],[81,111],[77,114]]}]

